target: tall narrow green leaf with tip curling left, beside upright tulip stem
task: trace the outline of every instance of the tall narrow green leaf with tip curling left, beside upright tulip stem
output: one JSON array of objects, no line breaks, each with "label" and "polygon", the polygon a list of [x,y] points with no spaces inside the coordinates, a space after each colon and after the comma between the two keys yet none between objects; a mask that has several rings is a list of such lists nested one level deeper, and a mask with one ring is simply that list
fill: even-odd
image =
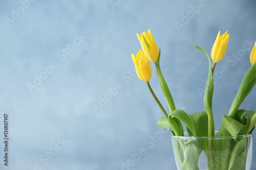
[{"label": "tall narrow green leaf with tip curling left, beside upright tulip stem", "polygon": [[194,46],[206,55],[209,62],[208,78],[204,90],[204,107],[205,111],[208,114],[208,126],[210,126],[209,128],[211,128],[211,130],[208,128],[211,131],[210,134],[208,134],[208,136],[214,136],[214,118],[212,117],[212,95],[214,94],[214,78],[212,77],[211,60],[209,55],[205,52],[205,50],[203,50],[203,48],[196,45]]}]

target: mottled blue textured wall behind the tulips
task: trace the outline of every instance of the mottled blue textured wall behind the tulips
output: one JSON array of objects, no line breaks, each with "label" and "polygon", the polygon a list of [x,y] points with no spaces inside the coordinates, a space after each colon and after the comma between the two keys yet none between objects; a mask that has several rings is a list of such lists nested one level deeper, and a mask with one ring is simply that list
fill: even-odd
[{"label": "mottled blue textured wall behind the tulips", "polygon": [[[201,5],[196,13],[195,5]],[[255,9],[253,0],[0,1],[1,141],[4,113],[10,134],[9,166],[1,142],[1,169],[176,169],[170,133],[157,127],[163,115],[133,72],[136,33],[151,29],[176,107],[194,113],[204,110],[199,91],[208,61],[193,44],[210,54],[218,31],[229,31],[215,70],[228,69],[215,81],[219,129],[250,67]],[[184,24],[177,29],[177,22]],[[152,69],[150,82],[167,109]],[[40,76],[44,80],[35,80]],[[241,108],[256,110],[255,95],[254,88]],[[138,152],[143,155],[133,158]]]}]

